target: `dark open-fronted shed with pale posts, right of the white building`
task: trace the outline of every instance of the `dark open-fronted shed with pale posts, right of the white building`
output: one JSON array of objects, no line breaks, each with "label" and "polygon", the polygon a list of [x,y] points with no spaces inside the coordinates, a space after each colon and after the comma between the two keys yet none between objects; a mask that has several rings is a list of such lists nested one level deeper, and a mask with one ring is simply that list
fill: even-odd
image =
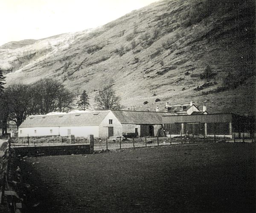
[{"label": "dark open-fronted shed with pale posts, right of the white building", "polygon": [[233,113],[191,115],[163,115],[163,127],[169,135],[209,135],[209,136],[237,136],[252,135],[255,132],[255,118],[253,116],[235,115]]}]

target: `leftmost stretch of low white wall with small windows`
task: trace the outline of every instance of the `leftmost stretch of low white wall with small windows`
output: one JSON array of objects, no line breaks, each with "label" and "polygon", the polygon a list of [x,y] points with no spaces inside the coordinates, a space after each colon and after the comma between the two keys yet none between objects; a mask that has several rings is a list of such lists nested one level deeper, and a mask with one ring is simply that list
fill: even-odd
[{"label": "leftmost stretch of low white wall with small windows", "polygon": [[[51,131],[52,130],[52,133]],[[47,135],[59,135],[59,127],[27,127],[19,128],[19,137],[27,136],[47,136]]]}]

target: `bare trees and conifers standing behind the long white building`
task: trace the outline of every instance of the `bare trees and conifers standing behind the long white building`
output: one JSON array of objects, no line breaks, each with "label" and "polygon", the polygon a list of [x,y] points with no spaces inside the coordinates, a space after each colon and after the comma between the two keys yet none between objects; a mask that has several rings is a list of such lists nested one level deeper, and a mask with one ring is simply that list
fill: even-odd
[{"label": "bare trees and conifers standing behind the long white building", "polygon": [[[76,105],[75,95],[63,83],[44,78],[32,84],[16,83],[5,88],[5,77],[0,69],[0,128],[7,134],[8,121],[17,127],[28,115],[45,115],[49,112],[68,112],[71,109],[86,110],[90,107],[89,97],[84,90]],[[120,98],[113,88],[100,90],[95,103],[99,109],[120,109]]]}]

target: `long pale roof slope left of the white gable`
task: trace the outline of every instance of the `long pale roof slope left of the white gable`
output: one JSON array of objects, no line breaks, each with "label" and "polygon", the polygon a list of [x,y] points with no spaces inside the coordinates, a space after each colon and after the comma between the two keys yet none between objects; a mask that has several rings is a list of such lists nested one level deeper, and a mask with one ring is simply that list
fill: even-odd
[{"label": "long pale roof slope left of the white gable", "polygon": [[63,115],[30,115],[19,128],[99,126],[109,112],[110,110]]}]

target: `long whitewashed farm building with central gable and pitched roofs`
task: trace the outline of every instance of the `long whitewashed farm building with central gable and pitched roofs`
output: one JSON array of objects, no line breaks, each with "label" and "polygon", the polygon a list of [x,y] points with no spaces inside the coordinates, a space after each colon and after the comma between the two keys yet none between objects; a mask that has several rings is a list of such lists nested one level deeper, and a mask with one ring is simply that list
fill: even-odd
[{"label": "long whitewashed farm building with central gable and pitched roofs", "polygon": [[165,112],[104,110],[49,115],[30,115],[20,125],[18,136],[94,135],[107,138],[135,134],[154,136],[162,127]]}]

